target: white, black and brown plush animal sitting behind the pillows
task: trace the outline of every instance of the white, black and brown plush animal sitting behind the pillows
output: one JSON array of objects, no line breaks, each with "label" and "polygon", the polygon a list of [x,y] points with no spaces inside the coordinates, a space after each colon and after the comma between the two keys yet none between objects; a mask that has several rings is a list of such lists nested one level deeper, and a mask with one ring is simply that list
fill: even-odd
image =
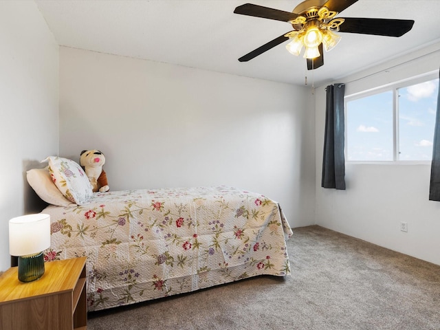
[{"label": "white, black and brown plush animal sitting behind the pillows", "polygon": [[109,191],[109,184],[107,183],[107,175],[102,169],[105,164],[105,157],[99,150],[83,150],[80,153],[80,166],[83,166],[85,175],[89,178],[94,192]]}]

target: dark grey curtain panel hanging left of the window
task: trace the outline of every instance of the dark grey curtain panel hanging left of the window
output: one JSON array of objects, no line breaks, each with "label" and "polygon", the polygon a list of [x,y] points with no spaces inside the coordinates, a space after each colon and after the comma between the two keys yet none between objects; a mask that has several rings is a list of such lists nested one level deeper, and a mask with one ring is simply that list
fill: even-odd
[{"label": "dark grey curtain panel hanging left of the window", "polygon": [[345,189],[344,93],[344,84],[327,86],[321,183],[323,188]]}]

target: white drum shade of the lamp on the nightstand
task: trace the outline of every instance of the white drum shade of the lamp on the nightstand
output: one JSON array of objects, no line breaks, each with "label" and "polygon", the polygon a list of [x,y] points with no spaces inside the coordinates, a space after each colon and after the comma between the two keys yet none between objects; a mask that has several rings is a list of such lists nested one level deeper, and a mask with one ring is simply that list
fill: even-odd
[{"label": "white drum shade of the lamp on the nightstand", "polygon": [[50,215],[29,214],[10,219],[9,253],[26,256],[50,248]]}]

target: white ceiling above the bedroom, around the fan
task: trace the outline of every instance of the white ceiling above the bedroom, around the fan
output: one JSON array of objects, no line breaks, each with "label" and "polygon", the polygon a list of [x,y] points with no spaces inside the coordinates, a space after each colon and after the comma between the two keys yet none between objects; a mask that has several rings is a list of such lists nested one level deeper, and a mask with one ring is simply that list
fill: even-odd
[{"label": "white ceiling above the bedroom, around the fan", "polygon": [[[338,17],[414,19],[399,38],[341,33],[325,65],[307,72],[285,43],[238,58],[292,30],[281,21],[234,14],[243,3],[292,12],[300,0],[35,0],[59,45],[239,76],[316,86],[440,41],[440,0],[359,0]],[[286,42],[287,43],[287,42]]]}]

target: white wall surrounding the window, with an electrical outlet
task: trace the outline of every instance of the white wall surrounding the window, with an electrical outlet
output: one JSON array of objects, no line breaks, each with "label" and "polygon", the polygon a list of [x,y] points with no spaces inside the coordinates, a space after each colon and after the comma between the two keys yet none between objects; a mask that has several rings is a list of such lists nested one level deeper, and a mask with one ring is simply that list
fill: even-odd
[{"label": "white wall surrounding the window, with an electrical outlet", "polygon": [[[438,72],[440,52],[434,51],[439,49],[437,43],[338,82],[347,83],[345,94],[350,95]],[[440,203],[428,201],[430,164],[349,162],[347,190],[321,188],[324,127],[325,87],[320,87],[316,92],[316,223],[440,265]],[[408,232],[400,231],[401,221],[408,223]]]}]

